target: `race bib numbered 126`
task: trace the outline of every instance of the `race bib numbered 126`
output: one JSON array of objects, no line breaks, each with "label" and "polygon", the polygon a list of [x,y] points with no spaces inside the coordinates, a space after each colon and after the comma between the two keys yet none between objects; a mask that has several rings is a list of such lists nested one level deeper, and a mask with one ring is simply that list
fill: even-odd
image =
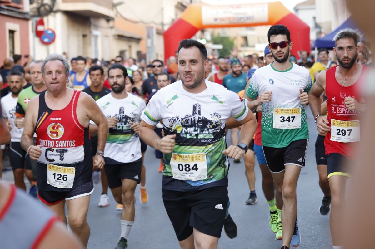
[{"label": "race bib numbered 126", "polygon": [[72,188],[75,168],[47,164],[47,183],[56,188]]}]

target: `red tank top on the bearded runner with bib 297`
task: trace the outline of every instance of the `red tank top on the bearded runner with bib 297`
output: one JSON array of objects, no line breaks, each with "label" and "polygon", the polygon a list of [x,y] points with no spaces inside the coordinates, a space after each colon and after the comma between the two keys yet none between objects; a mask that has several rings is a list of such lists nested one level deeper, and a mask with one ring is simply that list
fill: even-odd
[{"label": "red tank top on the bearded runner with bib 297", "polygon": [[[364,104],[365,99],[361,94],[361,85],[365,82],[366,77],[370,72],[370,67],[363,66],[361,75],[358,80],[351,86],[342,86],[338,83],[335,77],[336,67],[332,67],[326,71],[326,96],[327,96],[327,109],[328,109],[328,126],[331,126],[331,120],[336,119],[338,121],[359,121],[361,113],[354,110],[348,110],[345,106],[344,100],[347,97],[355,98],[359,103]],[[337,121],[332,121],[336,122]],[[334,123],[332,123],[334,124]],[[353,123],[354,124],[354,123]],[[335,129],[335,133],[331,134],[329,131],[324,139],[324,147],[326,148],[326,155],[330,153],[339,153],[347,158],[353,155],[352,146],[356,142],[337,142],[331,140],[331,135],[337,136],[342,135],[341,130]],[[347,131],[345,131],[346,133]]]}]

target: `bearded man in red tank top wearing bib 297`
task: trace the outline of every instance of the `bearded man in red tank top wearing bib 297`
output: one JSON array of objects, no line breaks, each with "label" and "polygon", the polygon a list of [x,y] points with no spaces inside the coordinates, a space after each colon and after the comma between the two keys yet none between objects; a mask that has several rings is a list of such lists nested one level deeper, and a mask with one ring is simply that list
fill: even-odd
[{"label": "bearded man in red tank top wearing bib 297", "polygon": [[[356,142],[360,141],[360,115],[366,111],[362,85],[370,72],[356,63],[360,35],[345,28],[335,35],[335,53],[339,65],[321,72],[309,93],[309,102],[319,133],[326,134],[327,174],[332,202],[330,227],[334,249],[342,248],[341,220],[345,185]],[[320,109],[320,95],[326,91],[328,116]]]}]

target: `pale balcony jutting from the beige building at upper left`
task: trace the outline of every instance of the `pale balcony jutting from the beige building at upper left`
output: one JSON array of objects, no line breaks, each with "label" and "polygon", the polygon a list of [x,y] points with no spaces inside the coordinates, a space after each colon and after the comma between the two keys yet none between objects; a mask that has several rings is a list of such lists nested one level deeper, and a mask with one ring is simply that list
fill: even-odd
[{"label": "pale balcony jutting from the beige building at upper left", "polygon": [[114,18],[112,0],[62,0],[61,10],[94,18]]}]

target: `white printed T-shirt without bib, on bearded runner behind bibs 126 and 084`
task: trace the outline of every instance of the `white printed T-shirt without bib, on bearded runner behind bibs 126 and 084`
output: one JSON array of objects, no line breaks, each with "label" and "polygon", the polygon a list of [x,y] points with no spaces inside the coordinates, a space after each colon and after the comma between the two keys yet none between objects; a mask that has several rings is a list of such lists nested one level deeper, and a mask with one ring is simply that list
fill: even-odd
[{"label": "white printed T-shirt without bib, on bearded runner behind bibs 126 and 084", "polygon": [[131,163],[142,157],[138,134],[130,128],[130,122],[139,122],[146,104],[141,98],[127,93],[127,97],[117,99],[111,93],[99,98],[96,103],[107,118],[117,118],[116,127],[108,131],[104,157],[106,164]]}]

